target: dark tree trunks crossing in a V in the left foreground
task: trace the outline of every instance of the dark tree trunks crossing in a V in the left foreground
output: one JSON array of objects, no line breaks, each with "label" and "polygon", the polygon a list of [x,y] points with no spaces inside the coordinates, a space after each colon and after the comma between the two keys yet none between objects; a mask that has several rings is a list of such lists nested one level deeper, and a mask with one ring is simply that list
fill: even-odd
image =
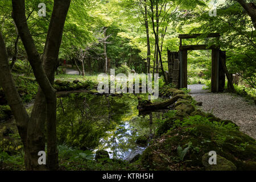
[{"label": "dark tree trunks crossing in a V in the left foreground", "polygon": [[[45,150],[44,125],[46,122],[47,167],[50,170],[58,168],[56,146],[56,90],[53,89],[52,84],[54,82],[59,48],[70,2],[70,0],[54,1],[51,22],[49,24],[44,53],[41,59],[30,34],[30,30],[28,29],[24,0],[13,0],[13,18],[24,48],[26,49],[28,61],[34,71],[36,81],[40,86],[26,129],[27,146],[25,150],[25,164],[28,170],[44,168],[44,166],[38,164],[38,152]],[[12,110],[15,112],[15,109]],[[15,118],[18,117],[19,115],[16,114]],[[20,137],[22,137],[22,135]]]}]

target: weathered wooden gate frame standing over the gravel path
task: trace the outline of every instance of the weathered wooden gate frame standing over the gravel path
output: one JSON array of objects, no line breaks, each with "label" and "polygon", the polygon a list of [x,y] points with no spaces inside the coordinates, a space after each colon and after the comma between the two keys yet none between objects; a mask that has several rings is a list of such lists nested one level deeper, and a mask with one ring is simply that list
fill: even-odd
[{"label": "weathered wooden gate frame standing over the gravel path", "polygon": [[[207,45],[182,46],[182,39],[196,38],[202,34],[182,34],[180,38],[180,51],[170,52],[168,50],[168,82],[176,85],[176,88],[187,88],[188,75],[188,50],[212,50],[212,75],[211,75],[211,92],[223,92],[225,87],[226,69],[226,52],[221,51],[218,47]],[[220,34],[208,34],[207,38],[216,38]],[[229,76],[227,76],[229,79]]]}]

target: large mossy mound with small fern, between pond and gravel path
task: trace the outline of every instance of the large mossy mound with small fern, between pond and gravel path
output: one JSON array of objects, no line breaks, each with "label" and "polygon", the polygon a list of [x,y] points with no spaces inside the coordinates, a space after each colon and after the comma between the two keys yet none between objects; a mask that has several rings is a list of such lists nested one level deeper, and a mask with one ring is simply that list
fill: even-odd
[{"label": "large mossy mound with small fern, between pond and gravel path", "polygon": [[[191,144],[180,160],[177,147]],[[235,125],[210,122],[195,115],[174,121],[171,130],[155,139],[142,154],[142,164],[155,170],[204,170],[203,156],[209,151],[232,162],[238,170],[256,170],[256,142]]]}]

